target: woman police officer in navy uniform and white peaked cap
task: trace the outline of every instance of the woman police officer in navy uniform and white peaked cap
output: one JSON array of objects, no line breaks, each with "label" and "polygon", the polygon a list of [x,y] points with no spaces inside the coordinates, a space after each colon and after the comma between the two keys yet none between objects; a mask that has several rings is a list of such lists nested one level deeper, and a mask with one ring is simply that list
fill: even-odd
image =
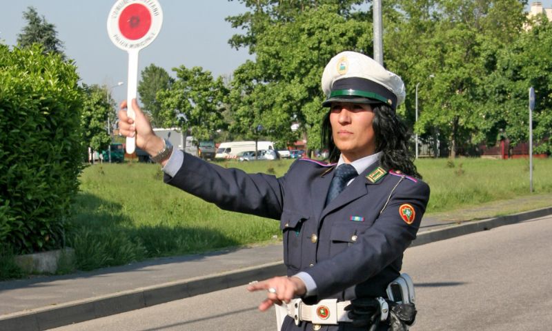
[{"label": "woman police officer in navy uniform and white peaked cap", "polygon": [[266,291],[262,311],[290,303],[282,330],[388,330],[377,318],[355,328],[359,323],[345,306],[387,298],[429,199],[407,148],[406,126],[395,113],[404,83],[370,57],[342,52],[324,69],[322,90],[331,163],[298,159],[280,178],[173,150],[155,136],[135,100],[136,121],[127,117],[124,102],[119,128],[164,165],[169,185],[224,210],[279,220],[288,275],[248,290]]}]

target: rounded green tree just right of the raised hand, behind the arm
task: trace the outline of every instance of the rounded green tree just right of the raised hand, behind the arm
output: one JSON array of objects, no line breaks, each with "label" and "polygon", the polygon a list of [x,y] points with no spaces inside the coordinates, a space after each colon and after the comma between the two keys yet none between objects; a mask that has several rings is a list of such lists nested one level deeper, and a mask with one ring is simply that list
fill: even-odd
[{"label": "rounded green tree just right of the raised hand, behind the arm", "polygon": [[185,66],[173,69],[177,80],[168,90],[160,90],[159,121],[166,128],[181,128],[183,134],[197,139],[210,139],[216,130],[224,128],[222,112],[228,90],[221,77],[213,79],[201,67]]}]

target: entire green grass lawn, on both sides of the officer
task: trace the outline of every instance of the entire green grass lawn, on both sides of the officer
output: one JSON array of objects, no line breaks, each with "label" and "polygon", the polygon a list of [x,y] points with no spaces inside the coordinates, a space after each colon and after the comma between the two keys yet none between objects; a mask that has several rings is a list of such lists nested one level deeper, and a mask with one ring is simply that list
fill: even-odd
[{"label": "entire green grass lawn, on both sides of the officer", "polygon": [[[225,161],[219,165],[282,176],[291,162]],[[481,206],[488,205],[486,217],[492,217],[512,210],[512,203],[504,200],[527,197],[541,197],[539,207],[550,205],[552,159],[535,160],[533,194],[529,193],[529,162],[524,159],[420,159],[417,167],[431,186],[428,214],[446,216],[447,212],[457,214],[455,210],[475,208],[480,214],[465,212],[464,218],[476,219],[482,217],[485,208]],[[104,163],[84,170],[76,216],[68,231],[76,268],[91,270],[280,238],[276,221],[220,210],[161,179],[159,166],[152,164]],[[535,204],[526,206],[531,209]],[[520,210],[524,205],[515,205],[515,211]]]}]

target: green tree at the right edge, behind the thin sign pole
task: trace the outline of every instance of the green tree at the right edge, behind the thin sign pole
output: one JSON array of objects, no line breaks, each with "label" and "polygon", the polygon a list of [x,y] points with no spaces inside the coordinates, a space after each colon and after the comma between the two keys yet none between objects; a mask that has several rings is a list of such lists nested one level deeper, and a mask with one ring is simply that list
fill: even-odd
[{"label": "green tree at the right edge, behind the thin sign pole", "polygon": [[486,77],[484,113],[493,124],[489,139],[511,145],[529,140],[528,90],[535,88],[535,152],[552,153],[552,23],[536,17],[530,29],[497,54],[497,70]]}]

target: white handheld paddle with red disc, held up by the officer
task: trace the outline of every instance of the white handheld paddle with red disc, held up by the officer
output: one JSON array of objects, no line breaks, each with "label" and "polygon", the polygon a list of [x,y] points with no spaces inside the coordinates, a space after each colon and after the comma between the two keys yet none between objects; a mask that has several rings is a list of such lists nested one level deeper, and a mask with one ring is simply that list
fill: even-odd
[{"label": "white handheld paddle with red disc, held up by the officer", "polygon": [[[128,116],[135,119],[132,99],[138,87],[138,52],[148,46],[159,34],[163,12],[157,0],[119,0],[108,16],[108,34],[111,41],[128,52],[128,90],[126,93]],[[135,137],[126,138],[126,152],[135,151]]]}]

